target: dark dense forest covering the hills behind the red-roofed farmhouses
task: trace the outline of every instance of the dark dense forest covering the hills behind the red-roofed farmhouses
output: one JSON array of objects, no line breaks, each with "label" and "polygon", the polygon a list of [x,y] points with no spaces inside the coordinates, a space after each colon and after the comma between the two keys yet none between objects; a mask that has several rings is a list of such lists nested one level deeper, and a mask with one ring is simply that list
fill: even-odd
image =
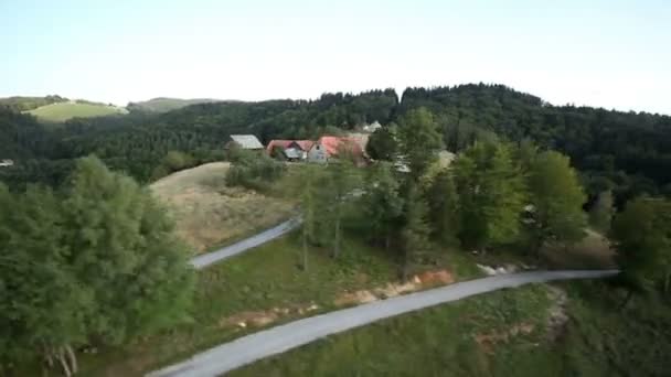
[{"label": "dark dense forest covering the hills behind the red-roofed farmhouses", "polygon": [[501,85],[408,88],[402,100],[393,89],[359,95],[324,94],[316,100],[215,103],[166,114],[73,119],[42,127],[15,108],[0,109],[0,158],[14,159],[0,180],[12,187],[26,182],[56,184],[72,160],[96,154],[110,168],[141,182],[156,176],[170,151],[195,162],[221,158],[231,133],[275,138],[316,138],[362,123],[396,122],[411,109],[427,108],[448,150],[475,140],[531,139],[571,158],[590,198],[613,190],[617,202],[640,193],[671,194],[671,117],[589,107],[552,106]]}]

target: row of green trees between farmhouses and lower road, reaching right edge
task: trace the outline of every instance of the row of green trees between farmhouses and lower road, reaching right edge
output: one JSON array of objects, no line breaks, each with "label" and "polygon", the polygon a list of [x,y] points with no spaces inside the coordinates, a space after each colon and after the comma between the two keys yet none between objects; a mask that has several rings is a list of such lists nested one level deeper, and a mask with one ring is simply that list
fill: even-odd
[{"label": "row of green trees between farmhouses and lower road, reaching right edge", "polygon": [[395,252],[407,277],[437,248],[507,248],[541,258],[551,246],[575,245],[592,226],[614,241],[622,270],[618,283],[629,292],[669,292],[669,200],[639,196],[616,215],[613,193],[604,191],[585,211],[579,173],[558,151],[529,140],[482,140],[448,163],[439,159],[440,127],[427,109],[409,110],[390,128],[372,137],[388,148],[368,169],[341,158],[307,165],[289,180],[300,201],[305,268],[309,244],[338,257],[348,228]]}]

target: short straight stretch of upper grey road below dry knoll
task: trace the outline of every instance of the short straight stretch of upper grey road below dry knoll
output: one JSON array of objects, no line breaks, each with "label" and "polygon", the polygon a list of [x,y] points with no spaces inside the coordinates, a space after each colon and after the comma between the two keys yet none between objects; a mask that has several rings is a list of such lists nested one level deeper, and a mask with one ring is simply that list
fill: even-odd
[{"label": "short straight stretch of upper grey road below dry knoll", "polygon": [[224,259],[236,256],[241,252],[244,252],[248,249],[255,248],[262,244],[270,241],[275,238],[284,236],[285,234],[296,229],[300,225],[300,220],[292,218],[286,220],[270,229],[264,230],[256,236],[252,236],[249,238],[245,238],[239,243],[226,246],[216,251],[207,252],[202,256],[198,256],[191,259],[191,265],[195,267],[198,270],[203,269],[210,265],[216,263]]}]

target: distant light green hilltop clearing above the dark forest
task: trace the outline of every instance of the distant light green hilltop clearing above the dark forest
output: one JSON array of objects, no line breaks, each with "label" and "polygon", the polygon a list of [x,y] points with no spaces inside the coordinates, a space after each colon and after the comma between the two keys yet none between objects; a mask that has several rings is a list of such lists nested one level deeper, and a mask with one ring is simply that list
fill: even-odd
[{"label": "distant light green hilltop clearing above the dark forest", "polygon": [[104,104],[85,104],[76,101],[57,103],[26,111],[38,119],[50,122],[62,122],[72,118],[92,118],[115,114],[126,114],[125,108]]}]

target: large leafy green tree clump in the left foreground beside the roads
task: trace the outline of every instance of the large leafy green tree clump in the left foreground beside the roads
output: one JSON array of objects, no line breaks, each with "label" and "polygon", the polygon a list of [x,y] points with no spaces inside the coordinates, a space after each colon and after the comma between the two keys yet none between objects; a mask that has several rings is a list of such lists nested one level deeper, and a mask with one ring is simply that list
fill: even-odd
[{"label": "large leafy green tree clump in the left foreground beside the roads", "polygon": [[98,159],[57,190],[0,184],[0,373],[42,360],[77,371],[82,347],[188,319],[189,251],[148,190]]}]

